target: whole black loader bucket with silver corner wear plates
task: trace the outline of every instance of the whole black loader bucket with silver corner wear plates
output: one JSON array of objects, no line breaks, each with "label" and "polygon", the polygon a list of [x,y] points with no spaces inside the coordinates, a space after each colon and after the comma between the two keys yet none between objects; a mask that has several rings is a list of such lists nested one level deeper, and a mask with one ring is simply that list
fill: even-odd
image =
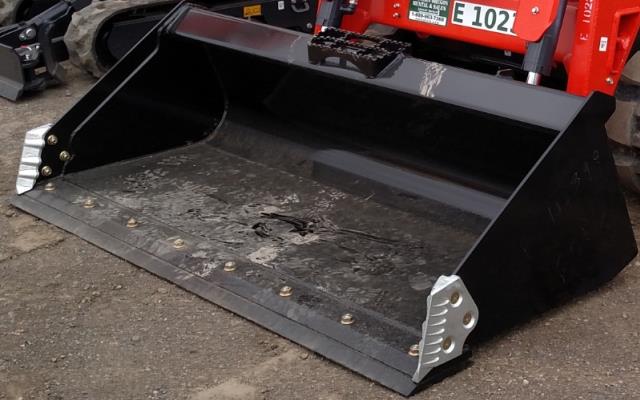
[{"label": "whole black loader bucket with silver corner wear plates", "polygon": [[311,39],[182,6],[28,133],[14,204],[405,395],[634,257],[613,99]]}]

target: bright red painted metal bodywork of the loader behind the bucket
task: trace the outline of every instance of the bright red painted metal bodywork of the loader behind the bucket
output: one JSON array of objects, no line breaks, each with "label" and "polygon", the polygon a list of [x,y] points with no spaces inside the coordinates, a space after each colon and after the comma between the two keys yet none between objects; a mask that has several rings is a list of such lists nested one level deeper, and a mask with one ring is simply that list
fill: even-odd
[{"label": "bright red painted metal bodywork of the loader behind the bucket", "polygon": [[[557,13],[558,0],[443,0],[446,18],[433,23],[410,18],[411,0],[360,0],[345,16],[342,28],[364,32],[370,24],[410,30],[524,54]],[[429,2],[431,3],[431,2]],[[499,33],[455,23],[459,5],[490,6],[516,12],[513,32]],[[538,7],[539,12],[532,14]],[[624,64],[640,27],[639,0],[569,0],[555,61],[569,74],[567,91],[586,96],[592,91],[615,93]]]}]

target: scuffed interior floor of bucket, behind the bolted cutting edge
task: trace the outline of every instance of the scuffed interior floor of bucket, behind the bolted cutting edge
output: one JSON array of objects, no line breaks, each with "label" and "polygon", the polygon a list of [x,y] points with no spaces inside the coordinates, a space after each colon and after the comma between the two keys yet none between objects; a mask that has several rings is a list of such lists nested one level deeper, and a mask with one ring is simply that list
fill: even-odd
[{"label": "scuffed interior floor of bucket, behind the bolted cutting edge", "polygon": [[66,179],[416,330],[477,238],[205,143]]}]

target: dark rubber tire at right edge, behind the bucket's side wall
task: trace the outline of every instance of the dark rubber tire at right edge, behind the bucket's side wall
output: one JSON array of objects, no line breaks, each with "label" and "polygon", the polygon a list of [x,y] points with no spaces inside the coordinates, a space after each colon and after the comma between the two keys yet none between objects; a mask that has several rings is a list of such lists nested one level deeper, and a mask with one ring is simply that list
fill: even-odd
[{"label": "dark rubber tire at right edge, behind the bucket's side wall", "polygon": [[640,52],[629,59],[607,123],[609,143],[622,184],[640,193]]}]

